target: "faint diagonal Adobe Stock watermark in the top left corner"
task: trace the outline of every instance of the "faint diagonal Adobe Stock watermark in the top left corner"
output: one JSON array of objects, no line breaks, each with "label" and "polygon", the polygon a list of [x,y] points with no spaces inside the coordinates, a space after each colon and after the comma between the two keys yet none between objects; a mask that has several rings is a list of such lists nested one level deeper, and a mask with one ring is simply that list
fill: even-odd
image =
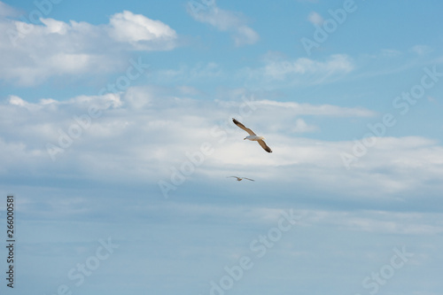
[{"label": "faint diagonal Adobe Stock watermark in the top left corner", "polygon": [[[29,12],[27,17],[21,15],[19,19],[20,22],[16,23],[15,29],[6,30],[6,34],[9,36],[9,40],[12,45],[17,46],[17,40],[25,38],[29,33],[32,32],[34,27],[31,25],[38,25],[39,20],[43,19],[43,16],[48,16],[53,8],[54,4],[60,4],[62,0],[42,0],[34,1],[35,10]],[[31,24],[29,24],[29,22]]]}]

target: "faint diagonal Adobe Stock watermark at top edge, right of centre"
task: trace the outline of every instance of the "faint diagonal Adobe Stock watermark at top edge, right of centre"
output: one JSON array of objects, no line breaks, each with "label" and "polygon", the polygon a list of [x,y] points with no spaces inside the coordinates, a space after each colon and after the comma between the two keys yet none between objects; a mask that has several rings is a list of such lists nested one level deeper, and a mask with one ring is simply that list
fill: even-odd
[{"label": "faint diagonal Adobe Stock watermark at top edge, right of centre", "polygon": [[[363,0],[364,1],[364,0]],[[343,25],[350,13],[357,10],[357,4],[354,0],[345,0],[342,4],[342,8],[336,10],[328,10],[330,14],[329,19],[324,19],[321,26],[315,26],[315,31],[312,39],[302,37],[300,43],[303,45],[307,56],[311,55],[313,48],[318,48],[321,43],[328,40],[329,36],[337,31],[338,26]],[[314,39],[314,40],[313,40]]]}]

